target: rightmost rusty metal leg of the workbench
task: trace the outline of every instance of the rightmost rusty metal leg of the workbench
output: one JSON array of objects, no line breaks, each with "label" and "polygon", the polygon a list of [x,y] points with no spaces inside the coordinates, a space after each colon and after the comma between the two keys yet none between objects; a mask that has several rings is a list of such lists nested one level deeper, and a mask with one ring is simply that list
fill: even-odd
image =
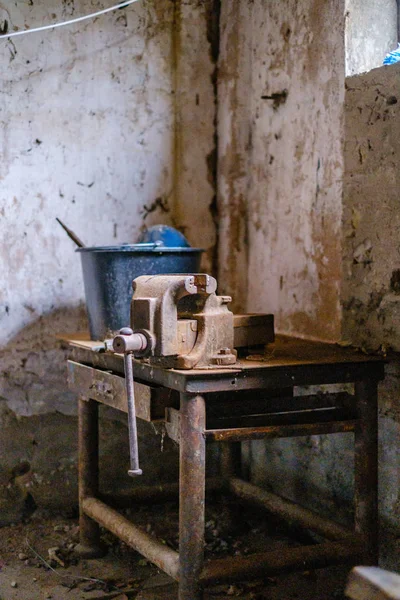
[{"label": "rightmost rusty metal leg of the workbench", "polygon": [[355,384],[355,529],[365,537],[371,564],[378,564],[378,392],[375,380]]}]

